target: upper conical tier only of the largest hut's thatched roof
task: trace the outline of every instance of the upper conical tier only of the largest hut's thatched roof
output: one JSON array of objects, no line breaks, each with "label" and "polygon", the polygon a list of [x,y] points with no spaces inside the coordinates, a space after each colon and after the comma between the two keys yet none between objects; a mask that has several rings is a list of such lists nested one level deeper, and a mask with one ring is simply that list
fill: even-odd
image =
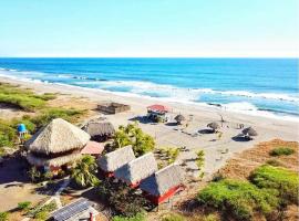
[{"label": "upper conical tier only of the largest hut's thatched roof", "polygon": [[44,155],[80,149],[90,140],[90,135],[64,119],[53,119],[40,129],[25,146],[30,151]]}]

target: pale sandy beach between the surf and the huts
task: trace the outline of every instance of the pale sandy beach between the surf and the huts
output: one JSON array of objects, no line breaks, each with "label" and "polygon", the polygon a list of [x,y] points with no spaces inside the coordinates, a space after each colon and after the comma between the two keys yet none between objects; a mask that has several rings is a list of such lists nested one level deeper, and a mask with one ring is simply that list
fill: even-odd
[{"label": "pale sandy beach between the surf and the huts", "polygon": [[[189,176],[196,176],[196,165],[192,160],[196,157],[195,152],[203,149],[206,155],[205,177],[217,171],[225,165],[227,159],[236,152],[241,152],[245,149],[254,147],[260,141],[267,141],[275,138],[283,140],[299,140],[298,123],[292,120],[283,120],[270,118],[265,116],[249,116],[240,113],[228,112],[213,106],[199,106],[192,104],[182,104],[177,102],[161,102],[154,98],[144,97],[128,97],[105,93],[97,90],[82,88],[68,85],[47,84],[40,82],[25,82],[12,80],[8,77],[0,77],[0,82],[11,84],[19,84],[22,87],[32,88],[37,93],[60,93],[69,94],[74,97],[84,98],[85,104],[96,107],[97,103],[102,102],[120,102],[131,105],[131,110],[116,115],[106,115],[115,127],[118,125],[126,125],[132,123],[136,117],[146,115],[146,107],[152,104],[164,104],[172,108],[171,116],[174,118],[177,114],[183,114],[190,118],[187,128],[177,128],[172,124],[144,124],[140,123],[142,129],[155,137],[157,147],[183,147],[186,146],[188,151],[179,155],[179,160],[185,161],[186,166],[190,168]],[[84,106],[84,102],[82,103]],[[70,104],[71,105],[71,104]],[[87,106],[86,106],[87,107]],[[93,117],[101,115],[96,114]],[[224,117],[220,131],[223,136],[218,139],[216,134],[199,134],[193,137],[192,134],[206,129],[206,125],[210,122],[219,122],[220,115]],[[234,140],[233,137],[238,135],[241,130],[237,128],[238,124],[244,124],[245,127],[251,126],[258,131],[258,136],[250,141]],[[228,152],[223,154],[224,149]],[[195,169],[194,171],[192,169]]]}]

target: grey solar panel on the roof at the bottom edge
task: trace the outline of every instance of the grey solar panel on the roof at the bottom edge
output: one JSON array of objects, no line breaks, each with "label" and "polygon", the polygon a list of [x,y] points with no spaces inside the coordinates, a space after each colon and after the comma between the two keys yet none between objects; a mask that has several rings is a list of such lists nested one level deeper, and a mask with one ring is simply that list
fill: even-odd
[{"label": "grey solar panel on the roof at the bottom edge", "polygon": [[89,209],[90,206],[91,206],[91,203],[87,200],[80,199],[80,200],[72,202],[72,203],[56,210],[55,212],[53,212],[52,218],[55,221],[64,221],[71,217]]}]

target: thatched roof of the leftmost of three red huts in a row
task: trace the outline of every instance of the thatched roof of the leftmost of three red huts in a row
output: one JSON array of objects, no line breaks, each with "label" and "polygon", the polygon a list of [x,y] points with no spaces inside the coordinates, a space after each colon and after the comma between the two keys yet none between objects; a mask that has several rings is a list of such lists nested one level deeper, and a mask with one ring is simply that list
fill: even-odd
[{"label": "thatched roof of the leftmost of three red huts in a row", "polygon": [[132,146],[126,146],[102,156],[99,159],[99,166],[105,172],[113,172],[133,159],[135,155]]}]

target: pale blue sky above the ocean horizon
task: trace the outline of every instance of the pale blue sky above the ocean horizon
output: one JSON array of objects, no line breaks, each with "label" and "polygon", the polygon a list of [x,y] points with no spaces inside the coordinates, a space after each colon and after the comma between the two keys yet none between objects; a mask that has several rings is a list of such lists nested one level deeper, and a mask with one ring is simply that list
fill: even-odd
[{"label": "pale blue sky above the ocean horizon", "polygon": [[0,56],[298,56],[298,0],[0,0]]}]

